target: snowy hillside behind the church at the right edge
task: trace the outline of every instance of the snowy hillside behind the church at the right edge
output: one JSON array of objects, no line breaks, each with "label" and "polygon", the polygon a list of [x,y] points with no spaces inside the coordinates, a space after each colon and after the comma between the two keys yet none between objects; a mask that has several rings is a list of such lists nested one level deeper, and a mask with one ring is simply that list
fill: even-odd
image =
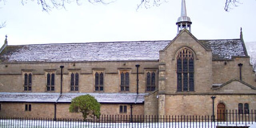
[{"label": "snowy hillside behind the church at the right edge", "polygon": [[245,42],[245,46],[250,56],[251,64],[254,66],[254,71],[256,71],[256,41]]}]

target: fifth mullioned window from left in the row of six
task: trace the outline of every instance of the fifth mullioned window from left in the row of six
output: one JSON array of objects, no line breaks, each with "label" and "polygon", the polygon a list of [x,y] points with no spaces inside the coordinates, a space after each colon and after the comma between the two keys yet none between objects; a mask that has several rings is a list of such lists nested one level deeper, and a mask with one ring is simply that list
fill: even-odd
[{"label": "fifth mullioned window from left in the row of six", "polygon": [[120,90],[129,91],[129,71],[120,71]]}]

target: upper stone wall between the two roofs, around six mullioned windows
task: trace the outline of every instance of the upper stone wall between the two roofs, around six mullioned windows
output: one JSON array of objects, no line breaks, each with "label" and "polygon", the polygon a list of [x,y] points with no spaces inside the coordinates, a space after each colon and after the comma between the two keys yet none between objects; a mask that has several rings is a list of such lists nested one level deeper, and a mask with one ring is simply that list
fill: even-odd
[{"label": "upper stone wall between the two roofs, around six mullioned windows", "polygon": [[[130,71],[129,92],[136,92],[136,64],[139,68],[139,92],[146,92],[145,79],[147,70],[156,71],[156,81],[158,80],[158,62],[70,62],[70,63],[36,63],[36,64],[0,64],[0,92],[26,92],[24,91],[23,72],[32,73],[32,91],[29,92],[60,92],[60,65],[63,68],[63,88],[62,92],[70,91],[70,73],[79,73],[79,91],[95,92],[93,71],[104,71],[104,91],[120,92],[120,70]],[[56,72],[55,90],[46,91],[46,72]],[[158,82],[156,82],[158,87]]]}]

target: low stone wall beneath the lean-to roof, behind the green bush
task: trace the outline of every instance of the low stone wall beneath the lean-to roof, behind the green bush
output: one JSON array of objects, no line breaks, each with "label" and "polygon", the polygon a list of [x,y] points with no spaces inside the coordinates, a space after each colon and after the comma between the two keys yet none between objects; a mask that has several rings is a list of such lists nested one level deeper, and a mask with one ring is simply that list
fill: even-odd
[{"label": "low stone wall beneath the lean-to roof, behind the green bush", "polygon": [[[0,102],[0,117],[19,118],[54,118],[54,103],[11,103]],[[25,111],[25,104],[31,104],[31,111]],[[120,113],[119,106],[127,106],[127,112]],[[56,104],[56,118],[83,119],[80,112],[69,112],[70,103]],[[130,116],[130,104],[101,104],[102,115],[128,115]],[[132,115],[144,115],[143,104],[132,104]],[[90,118],[88,116],[88,118]]]}]

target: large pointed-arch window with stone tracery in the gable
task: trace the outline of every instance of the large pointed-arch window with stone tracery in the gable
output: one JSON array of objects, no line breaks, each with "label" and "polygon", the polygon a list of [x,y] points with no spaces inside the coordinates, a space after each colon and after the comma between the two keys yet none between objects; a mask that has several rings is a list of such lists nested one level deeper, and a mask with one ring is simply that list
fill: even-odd
[{"label": "large pointed-arch window with stone tracery in the gable", "polygon": [[182,48],[178,52],[177,91],[194,91],[194,57],[188,48]]}]

